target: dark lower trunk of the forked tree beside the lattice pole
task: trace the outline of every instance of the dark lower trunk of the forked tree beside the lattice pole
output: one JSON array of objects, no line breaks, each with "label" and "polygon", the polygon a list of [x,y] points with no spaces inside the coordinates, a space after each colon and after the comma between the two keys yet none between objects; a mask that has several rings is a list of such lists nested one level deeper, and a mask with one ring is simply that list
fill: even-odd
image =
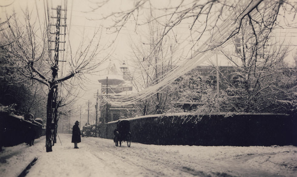
[{"label": "dark lower trunk of the forked tree beside the lattice pole", "polygon": [[48,92],[48,101],[46,104],[46,132],[45,132],[45,147],[46,152],[52,152],[52,99],[54,95],[54,89],[51,89]]}]

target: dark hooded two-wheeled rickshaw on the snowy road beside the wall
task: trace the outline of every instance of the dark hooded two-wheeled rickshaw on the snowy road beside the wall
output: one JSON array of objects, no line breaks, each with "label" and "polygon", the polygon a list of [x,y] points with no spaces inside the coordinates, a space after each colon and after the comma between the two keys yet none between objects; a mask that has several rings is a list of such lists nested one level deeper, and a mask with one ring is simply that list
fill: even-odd
[{"label": "dark hooded two-wheeled rickshaw on the snowy road beside the wall", "polygon": [[131,132],[130,132],[130,121],[126,119],[119,119],[117,122],[117,128],[113,131],[115,146],[120,146],[123,142],[127,142],[128,147],[131,145]]}]

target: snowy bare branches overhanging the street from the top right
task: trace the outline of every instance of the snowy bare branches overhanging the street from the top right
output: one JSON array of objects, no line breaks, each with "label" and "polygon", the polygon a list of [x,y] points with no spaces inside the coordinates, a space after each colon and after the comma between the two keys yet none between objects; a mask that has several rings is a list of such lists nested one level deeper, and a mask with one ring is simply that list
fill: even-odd
[{"label": "snowy bare branches overhanging the street from the top right", "polygon": [[[96,11],[108,5],[108,3],[109,1],[99,3],[98,8],[92,8],[92,11]],[[252,74],[256,73],[252,71],[257,70],[257,63],[265,58],[264,48],[271,44],[269,34],[273,27],[277,25],[276,19],[281,9],[294,15],[296,13],[296,3],[282,0],[272,2],[268,0],[247,0],[244,2],[239,0],[194,0],[190,2],[170,1],[160,7],[152,1],[139,0],[133,4],[128,3],[127,8],[124,8],[121,12],[112,12],[104,18],[115,21],[114,25],[109,26],[115,32],[119,32],[127,22],[131,21],[135,22],[135,30],[139,26],[150,22],[162,25],[164,28],[159,35],[160,37],[155,41],[155,45],[150,52],[151,56],[158,52],[158,45],[162,43],[169,32],[173,32],[177,28],[188,28],[184,32],[189,36],[187,40],[190,40],[190,49],[183,59],[190,58],[193,62],[203,57],[206,58],[207,56],[204,53],[211,53],[212,49],[228,45],[228,42],[232,41],[234,36],[242,35],[241,33],[245,32],[244,35],[249,35],[249,38],[245,38],[245,40],[252,43],[248,44],[249,52],[252,52],[249,53],[248,57],[252,57],[252,60],[250,60],[252,63],[247,66]],[[149,22],[141,19],[141,15],[155,11],[160,12],[160,15],[152,15]],[[191,51],[194,51],[193,55],[190,55]],[[199,62],[195,62],[193,65],[198,64]],[[189,62],[187,65],[189,65]],[[184,75],[192,68],[182,68],[183,70],[179,74]],[[259,74],[256,77],[260,79],[261,76],[262,74]],[[168,80],[171,79],[170,82],[173,82],[176,78],[177,74],[168,77]],[[162,80],[162,76],[157,79]],[[259,79],[256,82],[259,83]],[[162,82],[162,84],[165,85],[165,82]],[[159,88],[164,89],[164,85]],[[256,92],[252,94],[256,94]]]}]

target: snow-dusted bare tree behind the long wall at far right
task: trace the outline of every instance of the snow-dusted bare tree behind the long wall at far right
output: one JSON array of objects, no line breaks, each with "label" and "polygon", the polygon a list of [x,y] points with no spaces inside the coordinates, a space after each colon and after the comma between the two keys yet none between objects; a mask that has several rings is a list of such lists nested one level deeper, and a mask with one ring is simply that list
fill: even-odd
[{"label": "snow-dusted bare tree behind the long wall at far right", "polygon": [[272,28],[263,28],[263,24],[254,25],[249,18],[245,18],[242,26],[240,34],[235,36],[235,54],[221,50],[238,71],[232,74],[230,81],[224,80],[229,86],[229,96],[224,99],[225,105],[228,105],[225,110],[289,113],[289,107],[285,108],[280,101],[284,99],[286,90],[280,84],[280,78],[284,79],[284,75],[288,79],[295,77],[284,62],[289,52],[288,46],[274,45],[270,37]]}]

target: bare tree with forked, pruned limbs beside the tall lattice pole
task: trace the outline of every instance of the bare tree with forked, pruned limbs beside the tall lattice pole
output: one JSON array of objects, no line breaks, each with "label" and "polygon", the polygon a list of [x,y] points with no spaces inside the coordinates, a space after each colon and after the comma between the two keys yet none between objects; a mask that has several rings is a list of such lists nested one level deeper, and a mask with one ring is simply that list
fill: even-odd
[{"label": "bare tree with forked, pruned limbs beside the tall lattice pole", "polygon": [[[53,109],[57,110],[56,102],[53,104],[53,96],[57,86],[67,80],[80,82],[82,84],[83,75],[94,72],[106,58],[96,58],[102,46],[99,42],[94,42],[95,36],[100,35],[99,30],[95,30],[93,38],[86,44],[82,42],[75,53],[71,52],[67,58],[67,72],[65,75],[57,77],[60,71],[58,61],[49,55],[45,35],[46,28],[38,29],[36,21],[31,19],[28,10],[25,11],[24,24],[14,15],[12,20],[7,20],[7,30],[3,30],[1,35],[3,42],[10,45],[5,46],[5,50],[10,55],[11,68],[15,68],[23,76],[23,80],[34,80],[44,84],[47,89],[47,129],[46,129],[46,152],[52,151],[52,115]],[[42,33],[40,33],[41,31]],[[11,43],[12,42],[12,43]]]}]

